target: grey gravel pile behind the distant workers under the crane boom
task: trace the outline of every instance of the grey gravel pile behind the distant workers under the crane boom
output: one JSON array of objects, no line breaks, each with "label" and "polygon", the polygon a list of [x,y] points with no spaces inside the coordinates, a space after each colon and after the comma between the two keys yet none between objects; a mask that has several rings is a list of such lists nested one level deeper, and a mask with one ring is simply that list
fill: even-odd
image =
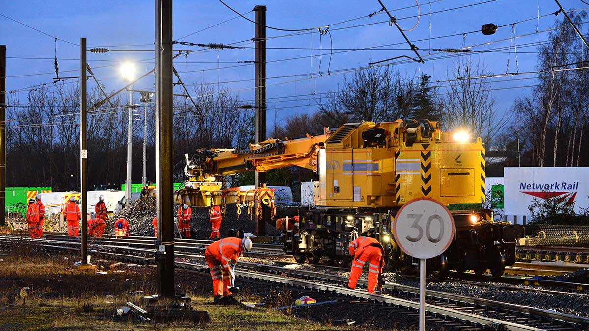
[{"label": "grey gravel pile behind the distant workers under the crane boom", "polygon": [[[174,221],[180,204],[174,203]],[[125,208],[114,214],[111,220],[107,221],[105,233],[113,233],[114,223],[123,217],[129,222],[131,234],[138,236],[153,236],[153,218],[155,217],[155,198],[140,197],[131,201]],[[192,229],[192,239],[209,239],[211,234],[211,223],[209,221],[209,208],[192,208],[192,219],[190,221]],[[226,206],[223,222],[221,223],[221,237],[227,236],[230,229],[243,229],[246,233],[254,233],[254,221],[250,219],[246,208],[241,208],[241,215],[237,216],[237,207],[232,205]],[[276,228],[271,224],[266,224],[266,234],[275,236]],[[178,234],[176,233],[176,237]]]}]

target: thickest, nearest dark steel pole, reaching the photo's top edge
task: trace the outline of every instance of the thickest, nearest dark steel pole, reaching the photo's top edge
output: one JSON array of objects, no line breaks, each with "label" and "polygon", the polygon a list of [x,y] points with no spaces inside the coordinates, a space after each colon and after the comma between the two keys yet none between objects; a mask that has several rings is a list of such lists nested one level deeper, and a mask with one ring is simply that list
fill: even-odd
[{"label": "thickest, nearest dark steel pole, reaching the photo's top edge", "polygon": [[155,0],[157,290],[174,297],[172,1]]}]

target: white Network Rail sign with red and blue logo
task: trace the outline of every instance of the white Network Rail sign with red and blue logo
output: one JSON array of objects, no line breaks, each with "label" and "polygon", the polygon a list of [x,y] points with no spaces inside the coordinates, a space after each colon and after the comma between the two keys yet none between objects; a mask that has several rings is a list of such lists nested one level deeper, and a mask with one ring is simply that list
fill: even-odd
[{"label": "white Network Rail sign with red and blue logo", "polygon": [[535,200],[558,198],[575,206],[589,206],[589,167],[505,168],[505,214],[530,214]]}]

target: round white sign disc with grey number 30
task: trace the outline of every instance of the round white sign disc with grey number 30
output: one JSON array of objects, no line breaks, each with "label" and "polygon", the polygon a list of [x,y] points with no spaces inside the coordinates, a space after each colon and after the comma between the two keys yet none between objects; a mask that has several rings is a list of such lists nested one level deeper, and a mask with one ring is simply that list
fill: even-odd
[{"label": "round white sign disc with grey number 30", "polygon": [[411,200],[401,207],[393,223],[401,249],[416,259],[444,253],[454,239],[454,219],[446,206],[431,198]]}]

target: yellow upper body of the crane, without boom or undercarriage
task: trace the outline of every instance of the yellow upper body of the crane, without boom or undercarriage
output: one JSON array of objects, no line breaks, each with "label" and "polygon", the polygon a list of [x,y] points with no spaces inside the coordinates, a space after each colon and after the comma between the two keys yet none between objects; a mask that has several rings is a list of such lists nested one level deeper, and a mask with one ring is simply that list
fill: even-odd
[{"label": "yellow upper body of the crane, without boom or undercarriage", "polygon": [[[315,205],[400,207],[419,197],[446,205],[484,201],[485,160],[480,138],[458,143],[436,129],[429,138],[415,132],[415,141],[407,145],[403,124],[400,120],[350,123],[335,131],[318,152]],[[374,128],[383,128],[386,139],[367,146],[362,133]]]}]

